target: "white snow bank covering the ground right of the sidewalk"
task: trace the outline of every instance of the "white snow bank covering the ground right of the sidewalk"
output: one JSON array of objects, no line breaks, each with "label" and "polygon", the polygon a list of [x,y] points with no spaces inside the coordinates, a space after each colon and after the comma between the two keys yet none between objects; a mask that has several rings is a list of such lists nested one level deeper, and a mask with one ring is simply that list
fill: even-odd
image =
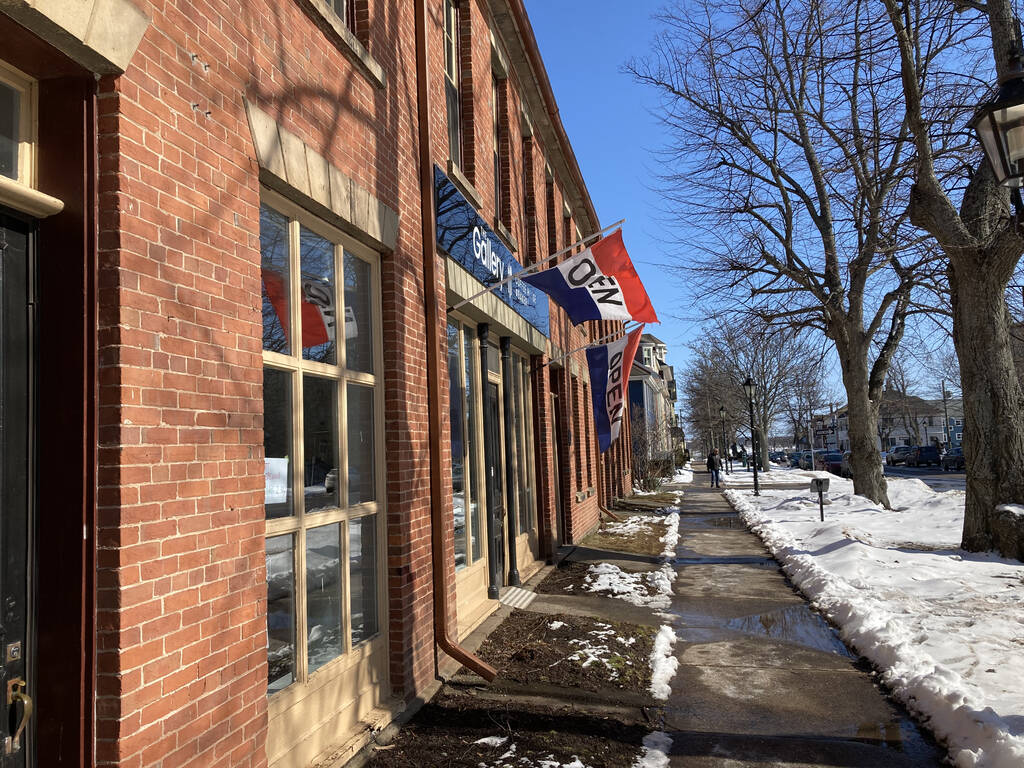
[{"label": "white snow bank covering the ground right of the sidewalk", "polygon": [[829,479],[824,522],[809,489],[726,497],[956,766],[1024,765],[1024,564],[958,548],[963,492],[890,477],[890,511]]}]

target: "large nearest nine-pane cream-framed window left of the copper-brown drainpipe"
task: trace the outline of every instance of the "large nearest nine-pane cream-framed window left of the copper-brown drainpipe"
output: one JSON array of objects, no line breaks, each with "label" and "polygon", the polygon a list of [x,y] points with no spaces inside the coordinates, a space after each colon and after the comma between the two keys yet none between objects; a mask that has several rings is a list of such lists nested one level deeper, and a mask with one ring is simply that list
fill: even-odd
[{"label": "large nearest nine-pane cream-framed window left of the copper-brown drainpipe", "polygon": [[376,255],[279,196],[260,206],[268,694],[382,628]]}]

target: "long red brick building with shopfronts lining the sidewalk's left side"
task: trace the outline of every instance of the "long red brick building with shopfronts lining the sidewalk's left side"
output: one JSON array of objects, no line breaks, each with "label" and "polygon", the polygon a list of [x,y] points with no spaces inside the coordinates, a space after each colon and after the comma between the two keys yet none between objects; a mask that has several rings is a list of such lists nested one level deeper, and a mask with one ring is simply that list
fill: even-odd
[{"label": "long red brick building with shopfronts lining the sidewalk's left side", "polygon": [[0,11],[0,766],[343,761],[631,487],[522,1]]}]

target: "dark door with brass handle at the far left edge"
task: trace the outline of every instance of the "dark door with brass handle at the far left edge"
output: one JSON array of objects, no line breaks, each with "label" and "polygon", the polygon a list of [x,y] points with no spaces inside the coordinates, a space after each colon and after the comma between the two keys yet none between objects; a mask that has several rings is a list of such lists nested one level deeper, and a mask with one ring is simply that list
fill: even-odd
[{"label": "dark door with brass handle at the far left edge", "polygon": [[33,263],[35,222],[0,207],[0,768],[35,765]]}]

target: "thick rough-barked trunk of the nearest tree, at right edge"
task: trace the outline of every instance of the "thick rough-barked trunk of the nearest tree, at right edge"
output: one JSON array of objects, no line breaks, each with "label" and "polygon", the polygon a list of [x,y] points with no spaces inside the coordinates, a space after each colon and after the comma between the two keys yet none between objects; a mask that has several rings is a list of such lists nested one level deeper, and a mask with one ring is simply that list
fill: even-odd
[{"label": "thick rough-barked trunk of the nearest tree, at right edge", "polygon": [[1006,281],[979,268],[981,254],[958,256],[950,259],[948,275],[964,394],[962,546],[1024,559],[1024,520],[996,511],[1024,503],[1024,396],[1011,354]]}]

